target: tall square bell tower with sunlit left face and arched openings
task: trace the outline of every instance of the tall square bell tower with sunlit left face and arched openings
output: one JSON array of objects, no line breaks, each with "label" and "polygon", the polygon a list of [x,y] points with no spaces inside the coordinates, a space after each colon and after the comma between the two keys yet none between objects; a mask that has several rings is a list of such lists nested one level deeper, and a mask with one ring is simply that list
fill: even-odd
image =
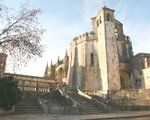
[{"label": "tall square bell tower with sunlit left face and arched openings", "polygon": [[99,69],[101,74],[101,90],[120,89],[119,58],[117,38],[115,35],[114,10],[103,7],[94,17],[93,31],[98,39]]}]

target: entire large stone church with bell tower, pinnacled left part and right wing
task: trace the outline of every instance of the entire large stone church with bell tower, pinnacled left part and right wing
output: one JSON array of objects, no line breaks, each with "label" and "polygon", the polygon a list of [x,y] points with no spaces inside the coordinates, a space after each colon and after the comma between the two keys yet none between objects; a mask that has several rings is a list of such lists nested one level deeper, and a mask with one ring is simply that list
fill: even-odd
[{"label": "entire large stone church with bell tower, pinnacled left part and right wing", "polygon": [[104,6],[91,19],[92,31],[73,39],[66,62],[47,68],[51,76],[69,89],[85,91],[150,88],[150,54],[133,55],[130,37],[114,12]]}]

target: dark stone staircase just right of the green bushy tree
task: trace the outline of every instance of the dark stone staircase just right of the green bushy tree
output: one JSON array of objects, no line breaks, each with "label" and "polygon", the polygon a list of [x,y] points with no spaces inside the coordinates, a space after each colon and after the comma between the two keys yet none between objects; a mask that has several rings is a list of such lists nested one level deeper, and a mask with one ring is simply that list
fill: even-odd
[{"label": "dark stone staircase just right of the green bushy tree", "polygon": [[26,95],[23,96],[23,99],[16,104],[15,114],[41,114],[43,113],[41,107],[37,103],[35,97],[29,98]]}]

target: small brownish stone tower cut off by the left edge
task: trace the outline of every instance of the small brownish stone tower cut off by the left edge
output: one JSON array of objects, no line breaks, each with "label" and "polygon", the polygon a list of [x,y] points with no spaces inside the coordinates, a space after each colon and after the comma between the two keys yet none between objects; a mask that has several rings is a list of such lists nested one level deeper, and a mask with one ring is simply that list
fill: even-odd
[{"label": "small brownish stone tower cut off by the left edge", "polygon": [[3,76],[5,73],[6,59],[7,55],[4,53],[0,53],[0,76]]}]

